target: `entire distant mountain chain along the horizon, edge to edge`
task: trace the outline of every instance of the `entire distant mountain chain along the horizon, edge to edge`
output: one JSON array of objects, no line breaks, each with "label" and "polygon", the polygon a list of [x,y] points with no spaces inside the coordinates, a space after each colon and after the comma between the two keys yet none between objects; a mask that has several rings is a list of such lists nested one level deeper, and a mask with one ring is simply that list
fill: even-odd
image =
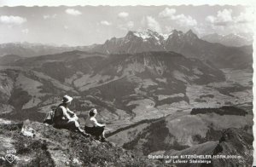
[{"label": "entire distant mountain chain along the horizon, edge to edge", "polygon": [[[168,34],[161,34],[148,29],[144,32],[130,31],[127,32],[125,37],[112,37],[105,43],[92,44],[90,46],[69,47],[26,42],[2,43],[0,44],[0,56],[20,55],[21,57],[31,57],[35,55],[50,55],[72,50],[100,52],[104,54],[135,54],[148,51],[175,51],[183,54],[184,47],[199,47],[201,49],[206,47],[206,45],[212,45],[212,43],[221,43],[226,46],[240,47],[252,44],[253,41],[249,37],[237,34],[222,36],[215,33],[200,38],[191,30],[188,32],[172,30],[172,32]],[[200,46],[200,44],[202,44],[202,46]]]}]

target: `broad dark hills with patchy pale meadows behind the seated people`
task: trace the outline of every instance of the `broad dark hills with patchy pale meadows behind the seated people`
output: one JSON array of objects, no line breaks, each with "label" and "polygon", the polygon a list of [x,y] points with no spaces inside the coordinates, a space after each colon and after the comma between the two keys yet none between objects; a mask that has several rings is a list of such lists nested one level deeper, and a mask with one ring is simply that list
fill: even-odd
[{"label": "broad dark hills with patchy pale meadows behind the seated people", "polygon": [[[106,122],[118,124],[122,119],[131,124],[142,120],[143,114],[162,117],[168,112],[161,108],[165,105],[189,104],[191,84],[224,80],[216,67],[175,52],[102,55],[73,51],[24,58],[0,70],[4,83],[1,116],[42,120],[42,114],[68,94],[77,97],[72,108],[83,111],[83,117],[90,107],[99,107]],[[142,104],[148,112],[138,111]],[[160,111],[157,116],[150,114],[155,111]]]}]

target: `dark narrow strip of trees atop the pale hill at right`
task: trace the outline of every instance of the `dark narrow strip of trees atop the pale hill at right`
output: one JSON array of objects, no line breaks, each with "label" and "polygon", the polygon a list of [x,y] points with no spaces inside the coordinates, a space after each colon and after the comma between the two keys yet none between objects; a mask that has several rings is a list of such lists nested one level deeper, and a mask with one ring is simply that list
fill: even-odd
[{"label": "dark narrow strip of trees atop the pale hill at right", "polygon": [[204,113],[217,113],[219,115],[239,115],[245,116],[248,112],[237,107],[218,107],[218,108],[193,108],[191,115]]}]

